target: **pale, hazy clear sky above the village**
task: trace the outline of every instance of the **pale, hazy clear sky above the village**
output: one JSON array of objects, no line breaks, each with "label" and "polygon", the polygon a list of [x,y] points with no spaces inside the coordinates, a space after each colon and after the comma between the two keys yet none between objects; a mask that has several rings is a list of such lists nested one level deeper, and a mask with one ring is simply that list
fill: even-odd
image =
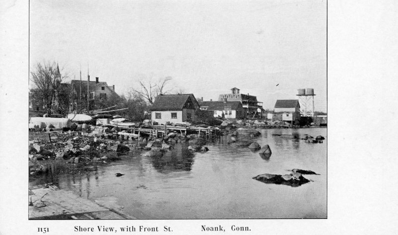
[{"label": "pale, hazy clear sky above the village", "polygon": [[169,76],[203,100],[237,87],[271,110],[313,88],[324,112],[326,1],[30,0],[29,60],[57,62],[66,81],[89,67],[118,94]]}]

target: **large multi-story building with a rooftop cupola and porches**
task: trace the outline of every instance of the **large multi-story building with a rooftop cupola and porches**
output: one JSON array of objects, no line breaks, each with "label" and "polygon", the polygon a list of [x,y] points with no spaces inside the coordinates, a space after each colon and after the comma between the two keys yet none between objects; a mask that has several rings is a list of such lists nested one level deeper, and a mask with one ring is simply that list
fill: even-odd
[{"label": "large multi-story building with a rooftop cupola and porches", "polygon": [[224,101],[225,99],[227,101],[239,101],[247,114],[259,114],[260,117],[262,116],[262,113],[264,111],[263,102],[257,101],[256,96],[250,96],[249,94],[240,94],[240,89],[236,87],[232,88],[231,91],[232,92],[230,94],[219,95],[218,101]]}]

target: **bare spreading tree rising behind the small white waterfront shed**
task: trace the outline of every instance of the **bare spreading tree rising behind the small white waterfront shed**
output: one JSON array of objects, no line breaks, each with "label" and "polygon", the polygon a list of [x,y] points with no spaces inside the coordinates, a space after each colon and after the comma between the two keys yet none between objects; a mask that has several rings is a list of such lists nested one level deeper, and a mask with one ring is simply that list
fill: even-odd
[{"label": "bare spreading tree rising behind the small white waterfront shed", "polygon": [[133,92],[137,93],[143,99],[147,100],[149,104],[153,104],[155,98],[160,94],[168,94],[170,90],[166,90],[166,86],[169,81],[172,80],[172,77],[165,77],[163,79],[159,79],[156,82],[151,81],[150,79],[145,81],[143,79],[138,80],[139,88],[132,88]]}]

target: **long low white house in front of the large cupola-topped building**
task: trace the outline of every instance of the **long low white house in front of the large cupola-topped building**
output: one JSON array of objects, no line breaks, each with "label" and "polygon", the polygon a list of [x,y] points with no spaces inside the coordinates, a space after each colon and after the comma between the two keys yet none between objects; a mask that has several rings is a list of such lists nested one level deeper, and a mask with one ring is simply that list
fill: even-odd
[{"label": "long low white house in front of the large cupola-topped building", "polygon": [[239,101],[203,101],[199,102],[200,110],[213,111],[214,117],[241,119],[246,116]]}]

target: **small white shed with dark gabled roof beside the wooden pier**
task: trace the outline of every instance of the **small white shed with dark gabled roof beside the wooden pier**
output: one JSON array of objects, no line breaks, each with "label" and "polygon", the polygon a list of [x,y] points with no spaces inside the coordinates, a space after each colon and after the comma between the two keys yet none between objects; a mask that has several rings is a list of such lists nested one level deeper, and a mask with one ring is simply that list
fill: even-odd
[{"label": "small white shed with dark gabled roof beside the wooden pier", "polygon": [[194,94],[159,95],[150,109],[152,123],[158,124],[195,121],[199,103]]}]

